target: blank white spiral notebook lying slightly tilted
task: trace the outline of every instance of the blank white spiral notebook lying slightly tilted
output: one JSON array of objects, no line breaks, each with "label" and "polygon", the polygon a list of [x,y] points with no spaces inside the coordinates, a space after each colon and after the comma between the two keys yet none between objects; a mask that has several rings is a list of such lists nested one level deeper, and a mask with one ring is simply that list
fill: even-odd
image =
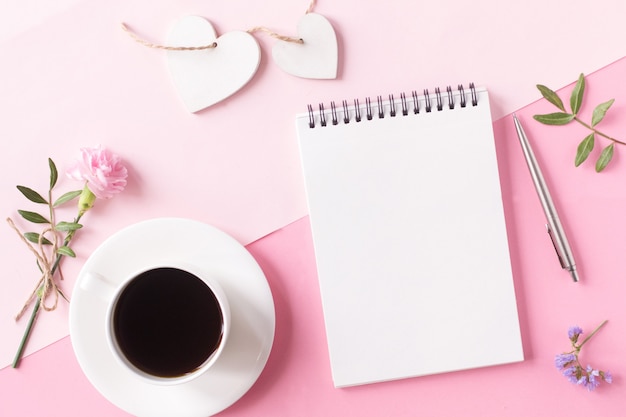
[{"label": "blank white spiral notebook lying slightly tilted", "polygon": [[489,97],[296,118],[334,385],[523,360]]}]

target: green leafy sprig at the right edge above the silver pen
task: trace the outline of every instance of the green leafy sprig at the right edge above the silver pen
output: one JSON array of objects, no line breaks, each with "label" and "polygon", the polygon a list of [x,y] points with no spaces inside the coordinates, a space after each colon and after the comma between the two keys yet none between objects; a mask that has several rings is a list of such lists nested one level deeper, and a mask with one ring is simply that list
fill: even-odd
[{"label": "green leafy sprig at the right edge above the silver pen", "polygon": [[611,143],[605,146],[598,159],[596,160],[595,169],[596,172],[603,171],[607,165],[613,159],[613,153],[615,151],[615,144],[626,145],[626,142],[613,138],[605,133],[600,132],[596,126],[604,119],[607,111],[615,102],[615,99],[608,100],[604,103],[598,104],[594,109],[591,116],[591,123],[586,123],[582,119],[579,118],[579,112],[583,104],[583,98],[585,95],[585,76],[580,74],[576,84],[574,85],[574,89],[571,92],[569,105],[570,111],[568,112],[563,104],[563,100],[559,97],[559,95],[546,87],[545,85],[538,84],[537,89],[541,93],[541,95],[548,100],[551,104],[557,107],[560,111],[548,114],[536,114],[534,115],[534,119],[540,123],[546,125],[553,126],[562,126],[569,124],[573,121],[579,123],[584,126],[586,129],[590,130],[585,138],[580,142],[578,148],[576,150],[576,157],[574,158],[574,165],[579,166],[583,162],[585,162],[591,151],[593,151],[594,146],[596,145],[596,136],[600,136],[604,139],[611,141]]}]

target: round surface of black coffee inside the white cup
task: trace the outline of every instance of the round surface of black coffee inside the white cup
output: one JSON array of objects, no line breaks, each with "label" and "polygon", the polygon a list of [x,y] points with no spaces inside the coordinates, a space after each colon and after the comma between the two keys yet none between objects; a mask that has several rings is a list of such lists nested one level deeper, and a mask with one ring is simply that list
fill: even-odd
[{"label": "round surface of black coffee inside the white cup", "polygon": [[120,295],[113,313],[120,350],[138,369],[177,377],[201,366],[217,349],[222,312],[209,287],[176,268],[137,276]]}]

